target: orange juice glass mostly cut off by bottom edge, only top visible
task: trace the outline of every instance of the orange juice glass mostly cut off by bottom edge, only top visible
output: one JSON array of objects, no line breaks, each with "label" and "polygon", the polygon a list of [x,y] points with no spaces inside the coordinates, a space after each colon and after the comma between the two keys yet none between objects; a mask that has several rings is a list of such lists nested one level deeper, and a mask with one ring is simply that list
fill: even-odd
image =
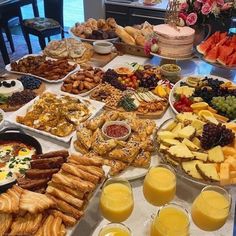
[{"label": "orange juice glass mostly cut off by bottom edge, only top visible", "polygon": [[124,224],[109,223],[100,230],[98,236],[132,236],[132,233]]}]

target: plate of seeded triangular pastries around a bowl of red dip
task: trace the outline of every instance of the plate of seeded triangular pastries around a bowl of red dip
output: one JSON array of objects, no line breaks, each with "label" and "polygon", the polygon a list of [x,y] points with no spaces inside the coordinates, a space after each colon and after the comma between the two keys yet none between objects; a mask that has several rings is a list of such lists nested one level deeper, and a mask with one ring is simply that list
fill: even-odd
[{"label": "plate of seeded triangular pastries around a bowl of red dip", "polygon": [[155,121],[134,113],[105,111],[77,128],[70,152],[100,159],[110,176],[135,179],[157,164],[153,134]]}]

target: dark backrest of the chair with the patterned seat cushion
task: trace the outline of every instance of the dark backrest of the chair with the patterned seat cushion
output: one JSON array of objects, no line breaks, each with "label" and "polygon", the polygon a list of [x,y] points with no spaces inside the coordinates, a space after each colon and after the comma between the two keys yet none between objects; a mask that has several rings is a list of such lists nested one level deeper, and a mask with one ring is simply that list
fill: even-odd
[{"label": "dark backrest of the chair with the patterned seat cushion", "polygon": [[64,28],[63,0],[44,0],[44,13],[45,17],[56,20]]}]

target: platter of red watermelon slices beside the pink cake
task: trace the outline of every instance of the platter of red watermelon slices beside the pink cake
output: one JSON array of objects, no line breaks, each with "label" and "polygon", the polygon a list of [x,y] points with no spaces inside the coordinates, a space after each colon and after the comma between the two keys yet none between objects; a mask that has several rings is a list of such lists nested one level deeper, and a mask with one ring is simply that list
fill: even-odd
[{"label": "platter of red watermelon slices beside the pink cake", "polygon": [[236,35],[215,32],[196,47],[200,59],[214,66],[236,69]]}]

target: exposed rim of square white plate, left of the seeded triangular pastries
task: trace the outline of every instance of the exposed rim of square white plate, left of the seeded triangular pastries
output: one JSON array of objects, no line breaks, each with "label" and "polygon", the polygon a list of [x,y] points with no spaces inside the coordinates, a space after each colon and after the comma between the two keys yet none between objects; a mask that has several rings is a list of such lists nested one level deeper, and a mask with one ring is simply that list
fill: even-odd
[{"label": "exposed rim of square white plate, left of the seeded triangular pastries", "polygon": [[[51,92],[51,93],[55,93],[53,91],[47,91],[47,92]],[[59,96],[65,96],[65,94],[63,93],[60,93],[60,92],[57,92],[57,95]],[[94,101],[94,100],[90,100],[90,99],[85,99],[85,98],[82,98],[80,96],[74,96],[74,95],[67,95],[67,96],[70,96],[70,97],[74,97],[74,98],[77,98],[79,100],[81,100],[84,104],[86,104],[89,108],[89,111],[91,112],[91,116],[88,118],[88,119],[91,119],[93,118],[103,107],[104,107],[104,103],[102,102],[98,102],[98,101]],[[33,131],[33,132],[36,132],[36,133],[39,133],[39,134],[43,134],[43,135],[46,135],[50,138],[54,138],[54,139],[57,139],[59,141],[62,141],[62,142],[69,142],[71,137],[74,135],[75,131],[72,132],[70,135],[68,136],[65,136],[65,137],[58,137],[56,135],[53,135],[51,133],[48,133],[46,131],[43,131],[43,130],[38,130],[38,129],[34,129],[34,128],[31,128],[29,126],[26,126],[26,125],[23,125],[23,124],[20,124],[18,122],[16,122],[16,117],[17,116],[25,116],[27,111],[29,111],[29,109],[31,108],[31,106],[39,99],[40,96],[37,96],[35,99],[31,100],[29,103],[25,104],[23,107],[21,107],[19,110],[17,110],[16,112],[14,112],[12,115],[10,115],[9,117],[6,118],[7,121],[9,121],[10,123],[16,125],[16,126],[20,126],[21,128],[24,128],[24,129],[28,129],[30,131]]]}]

